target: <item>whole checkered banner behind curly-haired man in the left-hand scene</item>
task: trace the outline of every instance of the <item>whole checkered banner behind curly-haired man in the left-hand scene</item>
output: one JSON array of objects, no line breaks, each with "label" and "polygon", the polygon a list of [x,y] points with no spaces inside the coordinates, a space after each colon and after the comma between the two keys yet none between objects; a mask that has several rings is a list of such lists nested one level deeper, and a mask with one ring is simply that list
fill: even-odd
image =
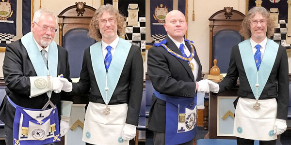
[{"label": "whole checkered banner behind curly-haired man in the left-hand scene", "polygon": [[104,0],[101,4],[112,4],[126,17],[125,40],[146,51],[146,1]]}]

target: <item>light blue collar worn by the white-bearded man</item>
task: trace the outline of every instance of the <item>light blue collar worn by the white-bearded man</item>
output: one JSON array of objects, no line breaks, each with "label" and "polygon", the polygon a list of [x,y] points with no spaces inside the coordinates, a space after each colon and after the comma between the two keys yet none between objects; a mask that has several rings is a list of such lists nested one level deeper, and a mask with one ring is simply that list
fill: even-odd
[{"label": "light blue collar worn by the white-bearded man", "polygon": [[[45,62],[41,56],[39,49],[37,48],[36,43],[33,40],[32,32],[27,33],[21,38],[21,43],[26,48],[29,58],[32,61],[33,68],[37,76],[47,76],[48,69]],[[57,44],[52,41],[49,44],[49,54],[48,54],[48,67],[49,75],[52,77],[57,77],[58,69],[58,47]]]}]

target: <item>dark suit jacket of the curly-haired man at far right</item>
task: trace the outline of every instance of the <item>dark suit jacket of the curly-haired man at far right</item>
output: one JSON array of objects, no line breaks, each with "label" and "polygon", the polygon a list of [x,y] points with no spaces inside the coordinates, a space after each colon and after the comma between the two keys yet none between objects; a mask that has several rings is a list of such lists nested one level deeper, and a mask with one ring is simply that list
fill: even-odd
[{"label": "dark suit jacket of the curly-haired man at far right", "polygon": [[[263,58],[264,59],[268,58]],[[275,63],[267,83],[259,97],[259,100],[276,98],[278,103],[277,118],[287,119],[288,100],[289,100],[289,76],[288,76],[288,58],[286,48],[279,45]],[[232,47],[230,62],[226,77],[219,82],[219,92],[223,92],[233,87],[240,79],[238,96],[242,98],[255,99],[252,89],[247,80],[239,46]],[[278,83],[278,85],[276,84]],[[236,104],[235,104],[236,105]]]}]

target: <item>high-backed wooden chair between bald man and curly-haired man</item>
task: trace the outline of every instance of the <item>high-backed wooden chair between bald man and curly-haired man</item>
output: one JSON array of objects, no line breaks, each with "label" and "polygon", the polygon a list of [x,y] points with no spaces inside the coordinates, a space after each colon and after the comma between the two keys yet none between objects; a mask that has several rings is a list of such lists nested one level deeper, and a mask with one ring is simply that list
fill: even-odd
[{"label": "high-backed wooden chair between bald man and curly-haired man", "polygon": [[[243,41],[240,35],[240,26],[244,19],[244,14],[232,7],[224,7],[209,18],[210,28],[210,53],[209,53],[209,72],[213,66],[213,59],[217,59],[217,66],[220,73],[227,73],[229,57],[233,45]],[[204,98],[204,122],[205,130],[208,130],[209,124],[209,96]]]}]

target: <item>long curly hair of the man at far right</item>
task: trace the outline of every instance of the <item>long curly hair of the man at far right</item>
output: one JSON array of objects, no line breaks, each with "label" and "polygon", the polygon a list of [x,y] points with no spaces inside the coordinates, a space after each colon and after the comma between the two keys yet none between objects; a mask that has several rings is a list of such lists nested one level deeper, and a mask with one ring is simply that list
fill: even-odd
[{"label": "long curly hair of the man at far right", "polygon": [[266,36],[270,38],[274,34],[275,23],[270,17],[270,13],[264,7],[253,7],[248,11],[248,14],[242,21],[240,33],[244,39],[249,39],[252,35],[251,33],[251,19],[257,14],[260,13],[267,20],[267,32]]}]

